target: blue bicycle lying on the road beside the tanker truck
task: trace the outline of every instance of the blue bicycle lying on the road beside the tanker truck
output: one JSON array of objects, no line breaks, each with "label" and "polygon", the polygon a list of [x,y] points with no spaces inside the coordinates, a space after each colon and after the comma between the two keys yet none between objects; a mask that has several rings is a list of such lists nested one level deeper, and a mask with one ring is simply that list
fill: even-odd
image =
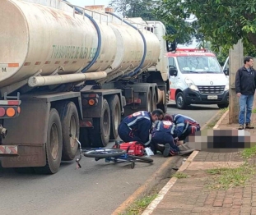
[{"label": "blue bicycle lying on the road beside the tanker truck", "polygon": [[[72,135],[70,135],[72,137]],[[76,159],[77,162],[77,168],[81,168],[81,154],[87,158],[95,158],[95,161],[99,161],[100,159],[105,158],[105,162],[131,162],[131,168],[133,169],[135,167],[135,162],[153,162],[153,159],[151,158],[145,158],[145,157],[139,157],[136,155],[130,155],[127,153],[127,151],[123,149],[113,148],[113,149],[103,149],[103,148],[97,148],[97,149],[90,149],[90,150],[82,150],[81,149],[81,143],[77,139],[77,137],[72,137],[73,140],[77,141],[77,144],[79,145],[79,158]]]}]

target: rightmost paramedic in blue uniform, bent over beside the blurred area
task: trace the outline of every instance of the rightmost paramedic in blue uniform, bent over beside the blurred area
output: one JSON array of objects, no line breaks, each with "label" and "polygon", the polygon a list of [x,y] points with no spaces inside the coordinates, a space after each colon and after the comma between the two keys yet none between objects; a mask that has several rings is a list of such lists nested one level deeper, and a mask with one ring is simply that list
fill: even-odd
[{"label": "rightmost paramedic in blue uniform, bent over beside the blurred area", "polygon": [[182,114],[172,115],[173,123],[175,124],[174,137],[178,140],[185,140],[189,135],[200,130],[201,127],[193,118]]}]

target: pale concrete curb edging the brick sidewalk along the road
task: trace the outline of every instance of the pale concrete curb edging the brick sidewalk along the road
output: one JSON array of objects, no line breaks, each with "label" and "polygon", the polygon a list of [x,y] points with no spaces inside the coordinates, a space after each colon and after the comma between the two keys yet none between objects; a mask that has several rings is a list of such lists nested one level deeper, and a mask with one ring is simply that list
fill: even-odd
[{"label": "pale concrete curb edging the brick sidewalk along the road", "polygon": [[[219,114],[221,113],[221,110],[216,112],[216,114],[206,122],[205,125],[202,126],[201,130],[205,129],[206,126],[208,124],[210,124]],[[223,114],[224,115],[224,114]],[[222,117],[223,117],[222,115]],[[217,121],[218,125],[221,123],[221,121],[224,119],[224,117]],[[220,123],[219,123],[220,122]],[[199,153],[198,150],[193,151],[193,153],[191,153],[189,155],[189,158],[186,160],[186,162],[184,162],[180,167],[179,170],[177,172],[184,172],[188,167],[189,164],[191,162],[193,162],[193,159],[197,156],[197,154]],[[175,182],[178,180],[178,178],[176,177],[172,177],[170,179],[170,181],[167,182],[167,184],[161,189],[161,191],[159,192],[159,194],[157,195],[156,199],[154,199],[151,204],[149,204],[147,206],[147,208],[144,210],[144,212],[142,213],[142,215],[150,215],[151,213],[153,213],[153,211],[156,209],[157,205],[160,204],[161,200],[164,199],[165,194],[167,194],[167,192],[170,190],[170,188],[175,185]]]}]

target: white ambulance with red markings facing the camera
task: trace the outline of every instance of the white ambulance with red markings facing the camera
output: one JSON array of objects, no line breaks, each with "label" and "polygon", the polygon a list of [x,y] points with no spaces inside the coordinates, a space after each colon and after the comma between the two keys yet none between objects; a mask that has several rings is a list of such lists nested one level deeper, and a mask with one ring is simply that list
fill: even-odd
[{"label": "white ambulance with red markings facing the camera", "polygon": [[229,80],[214,53],[205,49],[176,48],[167,53],[170,100],[180,109],[189,104],[229,106]]}]

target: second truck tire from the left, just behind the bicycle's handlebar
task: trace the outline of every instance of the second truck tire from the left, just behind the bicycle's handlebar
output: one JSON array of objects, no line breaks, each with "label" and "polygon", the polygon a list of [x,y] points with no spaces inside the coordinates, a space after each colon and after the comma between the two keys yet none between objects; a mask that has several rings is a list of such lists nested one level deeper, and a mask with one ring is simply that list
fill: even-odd
[{"label": "second truck tire from the left, just behind the bicycle's handlebar", "polygon": [[73,102],[60,103],[58,111],[63,127],[63,161],[72,161],[76,157],[78,144],[69,135],[79,139],[79,117],[77,106]]}]

